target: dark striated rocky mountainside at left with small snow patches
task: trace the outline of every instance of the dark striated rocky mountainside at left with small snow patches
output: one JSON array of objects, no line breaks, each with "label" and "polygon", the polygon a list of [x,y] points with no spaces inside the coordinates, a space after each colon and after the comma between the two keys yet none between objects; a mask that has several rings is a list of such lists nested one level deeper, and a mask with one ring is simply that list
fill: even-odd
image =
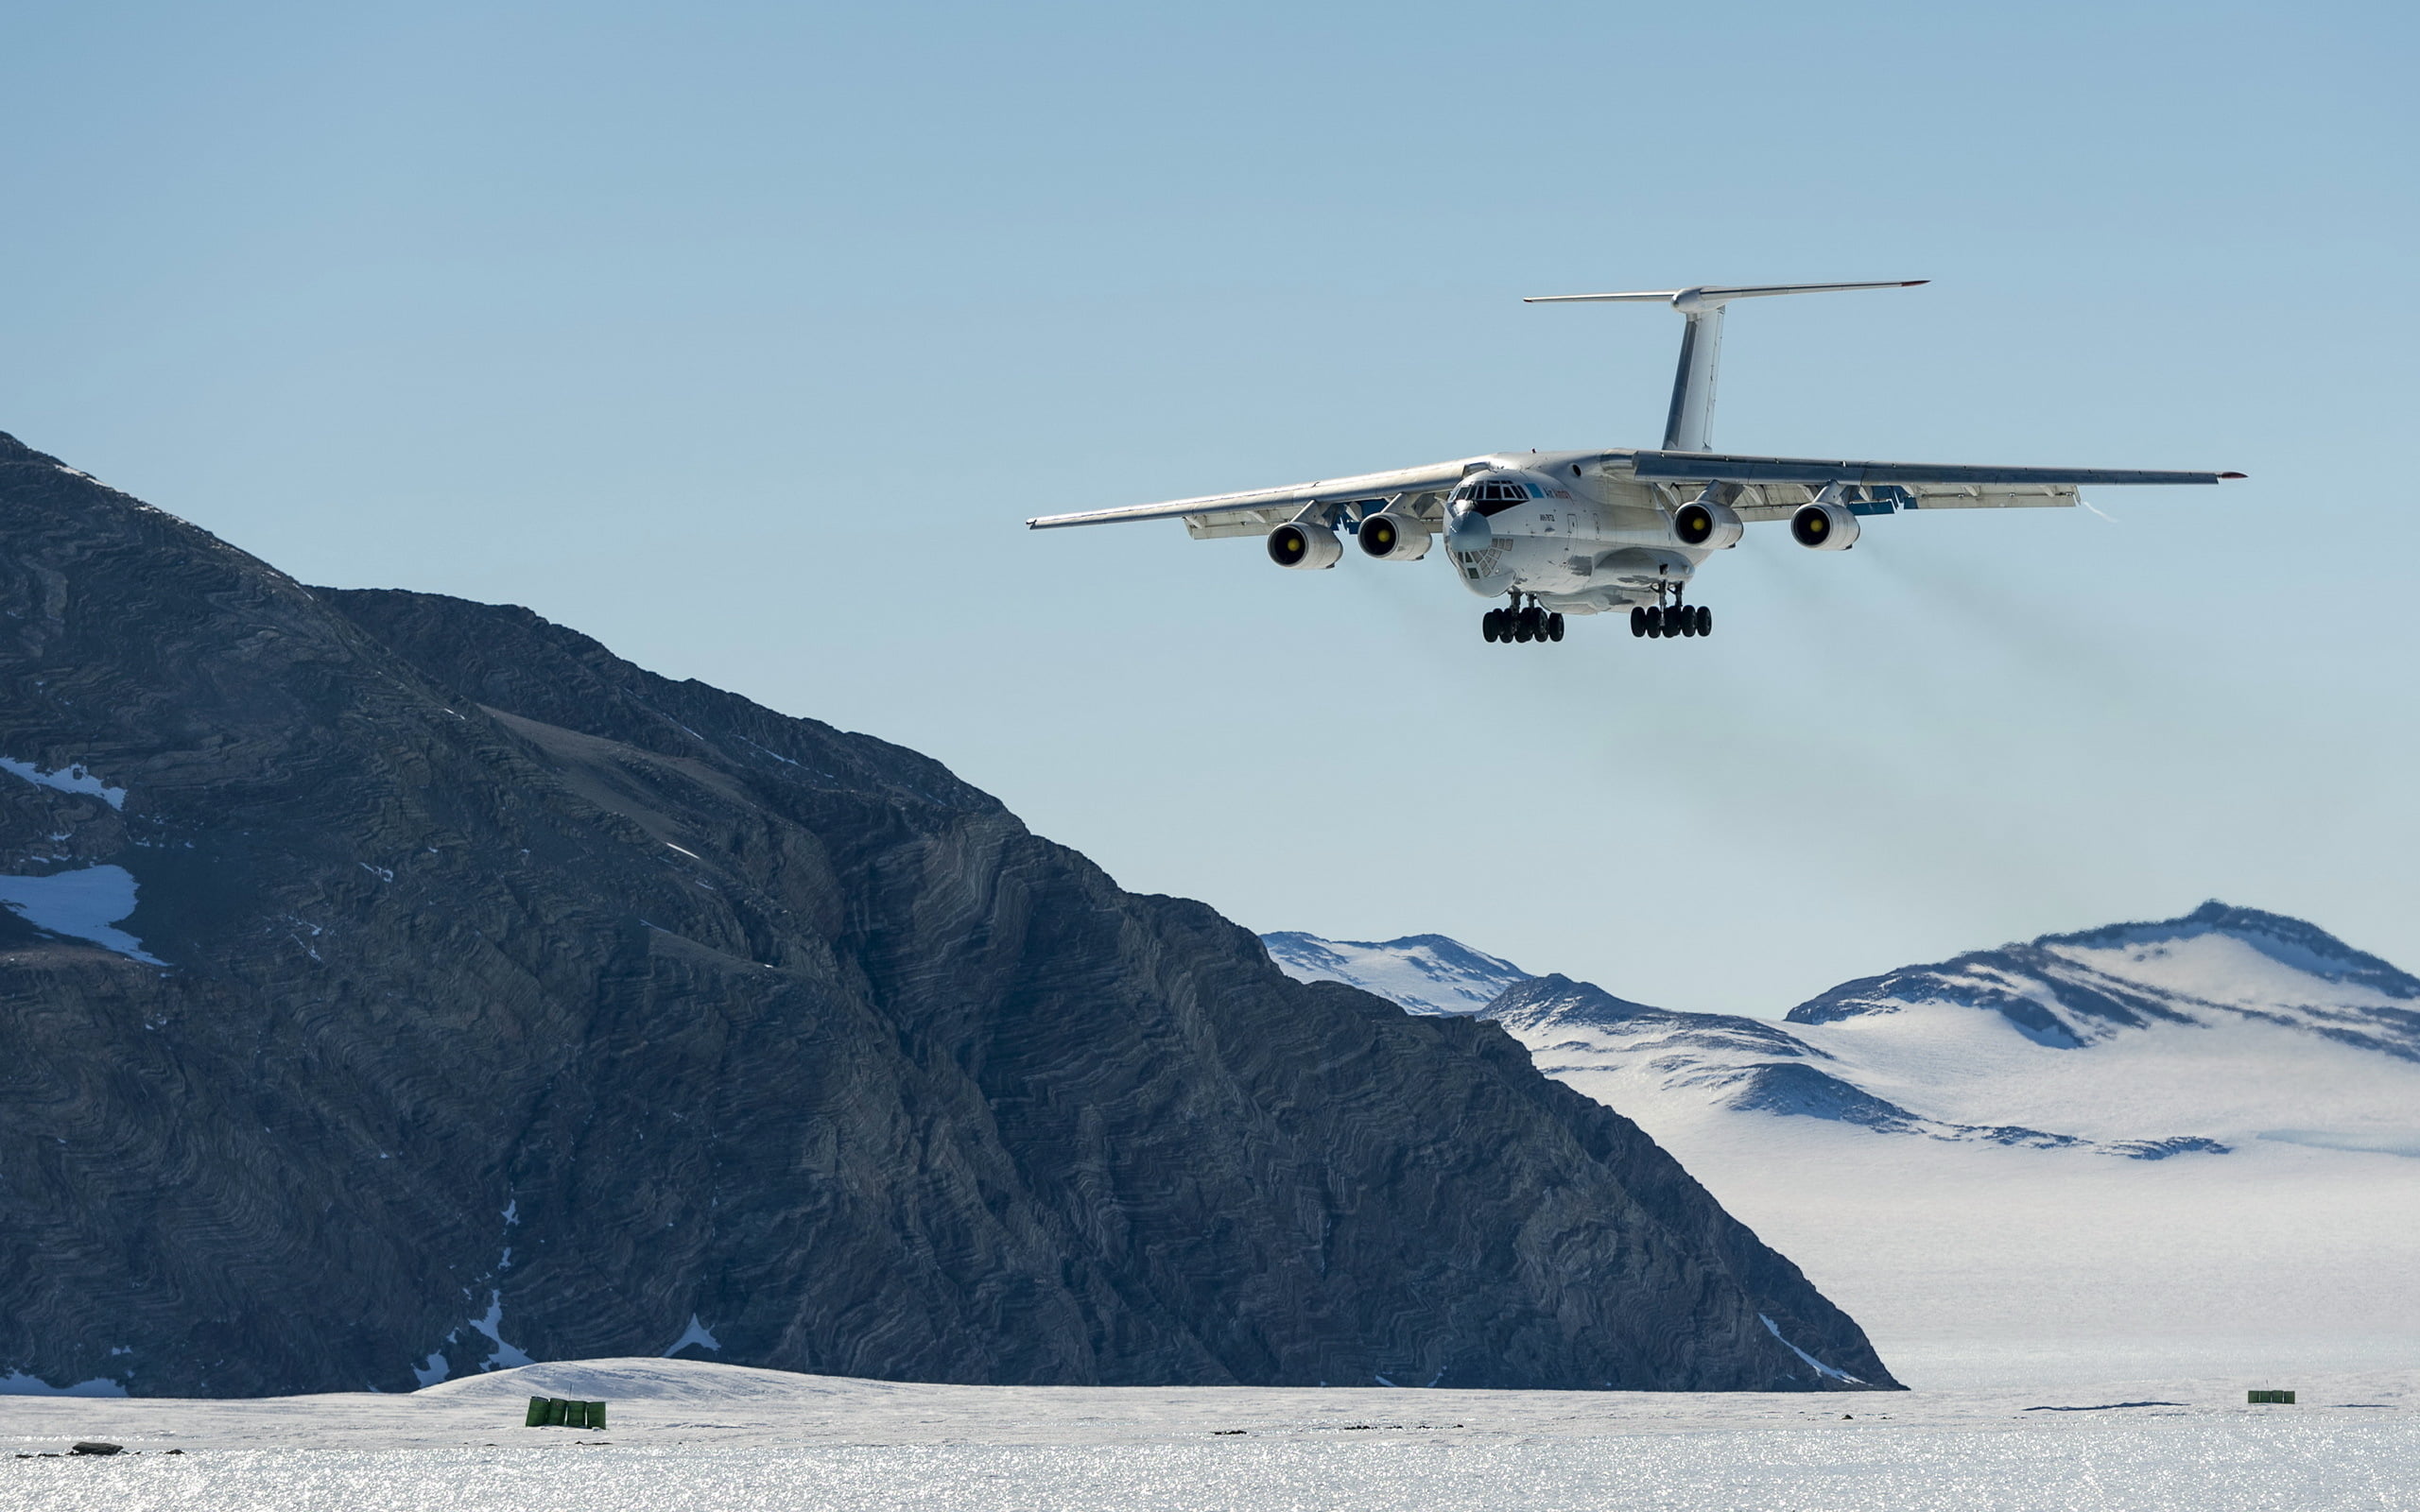
[{"label": "dark striated rocky mountainside at left with small snow patches", "polygon": [[10,438],[0,905],[0,1377],[1892,1384],[1493,1023]]}]

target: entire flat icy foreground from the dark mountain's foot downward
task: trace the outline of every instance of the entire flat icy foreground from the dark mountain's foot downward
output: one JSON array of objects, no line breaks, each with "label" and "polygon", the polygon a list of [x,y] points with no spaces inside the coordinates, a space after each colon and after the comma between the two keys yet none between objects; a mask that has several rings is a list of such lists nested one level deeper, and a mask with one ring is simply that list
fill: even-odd
[{"label": "entire flat icy foreground from the dark mountain's foot downward", "polygon": [[[2292,1408],[2246,1406],[2246,1384],[1839,1396],[1031,1389],[617,1360],[532,1364],[411,1396],[0,1398],[7,1454],[0,1505],[44,1512],[2420,1505],[2420,1372],[2251,1381],[2294,1386],[2301,1403]],[[612,1430],[520,1427],[528,1396],[605,1398]],[[15,1459],[56,1454],[75,1439],[119,1442],[128,1454]]]}]

